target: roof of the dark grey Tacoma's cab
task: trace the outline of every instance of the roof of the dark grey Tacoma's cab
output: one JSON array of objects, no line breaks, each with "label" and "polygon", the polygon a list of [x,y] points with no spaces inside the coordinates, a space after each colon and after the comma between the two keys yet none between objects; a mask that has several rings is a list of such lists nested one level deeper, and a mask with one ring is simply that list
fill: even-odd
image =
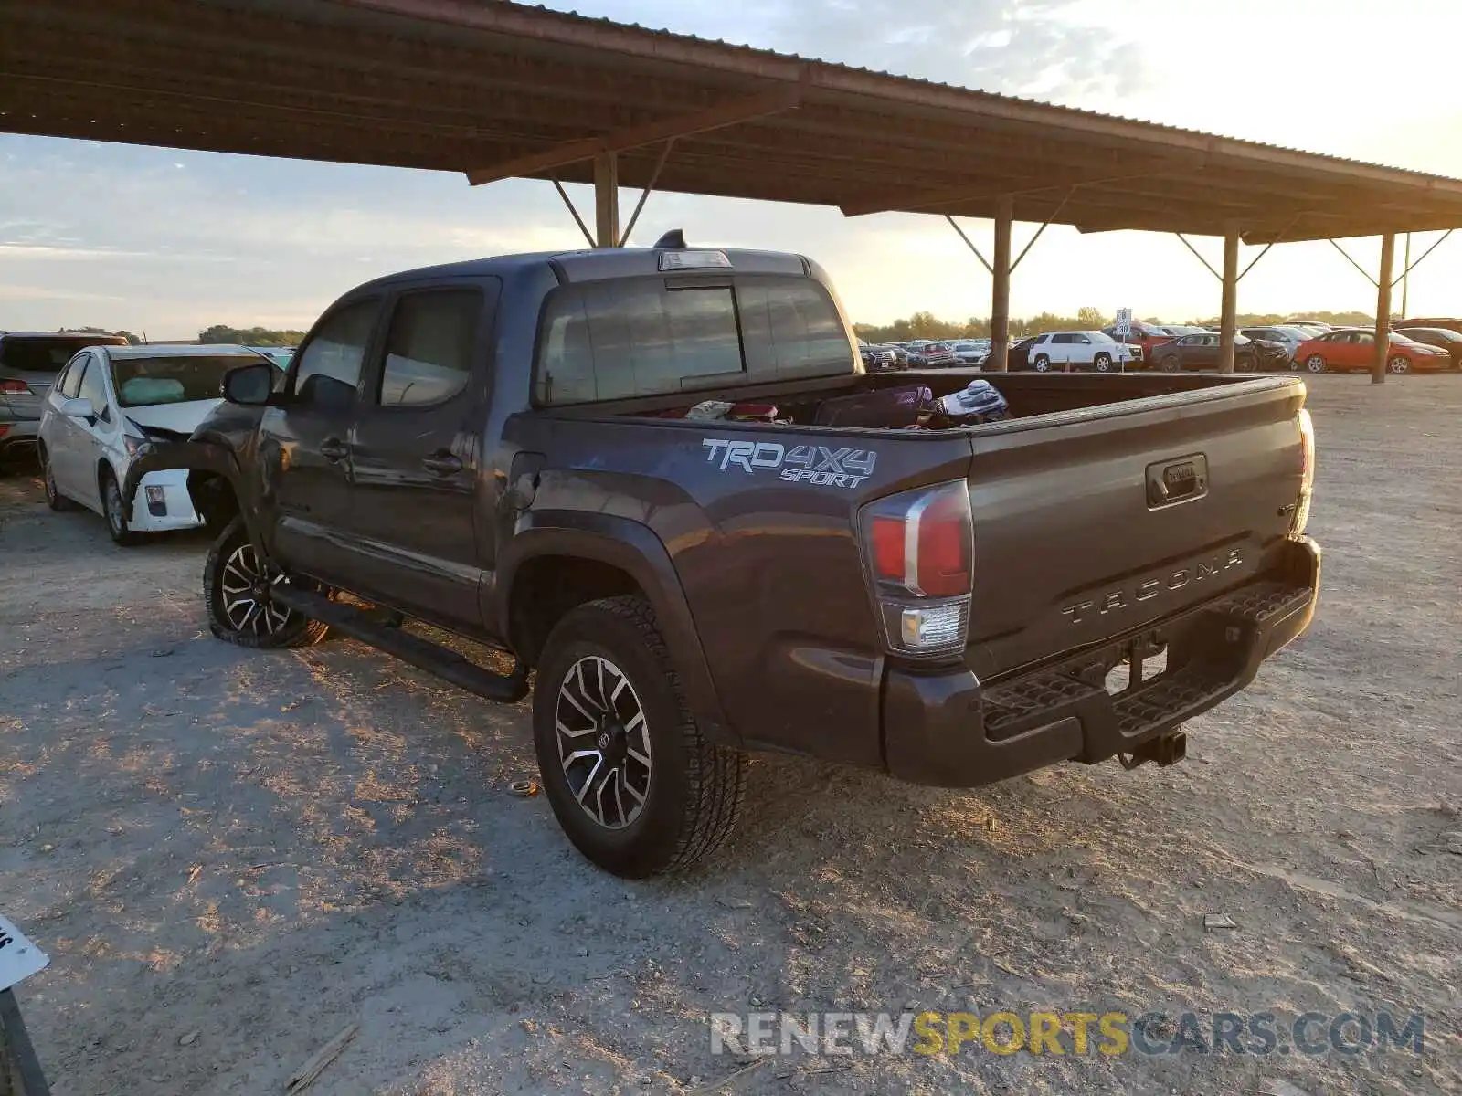
[{"label": "roof of the dark grey Tacoma's cab", "polygon": [[[611,278],[643,278],[656,273],[693,273],[715,267],[683,267],[661,270],[661,256],[680,248],[655,247],[596,247],[577,251],[531,251],[526,254],[491,256],[466,259],[458,263],[424,266],[417,270],[377,278],[366,285],[385,286],[396,282],[414,282],[434,278],[472,278],[488,275],[510,275],[529,266],[553,266],[563,282],[596,282]],[[731,263],[730,273],[811,275],[816,266],[800,254],[784,251],[747,251],[727,248],[684,248],[684,254],[696,251],[719,251]]]}]

